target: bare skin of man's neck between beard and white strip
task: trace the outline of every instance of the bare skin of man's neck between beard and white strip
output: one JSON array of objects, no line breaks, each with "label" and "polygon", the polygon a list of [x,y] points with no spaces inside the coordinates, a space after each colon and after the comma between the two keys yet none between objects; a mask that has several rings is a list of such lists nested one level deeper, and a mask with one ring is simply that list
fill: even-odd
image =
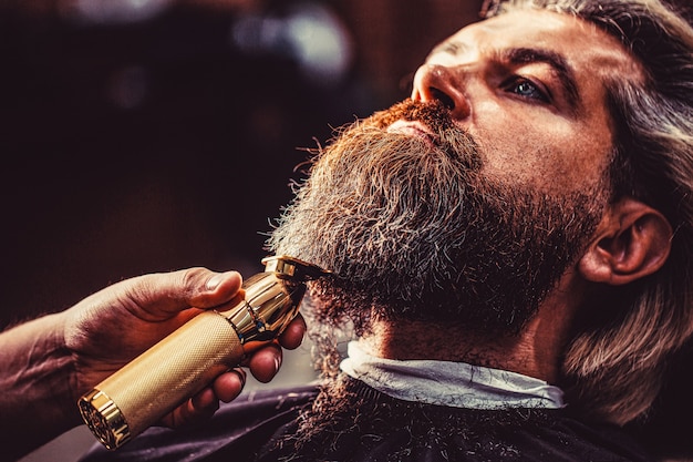
[{"label": "bare skin of man's neck between beard and white strip", "polygon": [[373,319],[370,333],[360,342],[364,351],[381,358],[462,361],[556,383],[585,290],[585,281],[567,271],[517,335],[479,333],[443,322]]}]

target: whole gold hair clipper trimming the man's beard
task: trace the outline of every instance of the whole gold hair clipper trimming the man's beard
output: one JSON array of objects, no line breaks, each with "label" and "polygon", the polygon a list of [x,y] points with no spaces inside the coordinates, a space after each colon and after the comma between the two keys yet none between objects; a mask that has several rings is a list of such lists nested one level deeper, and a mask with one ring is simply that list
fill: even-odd
[{"label": "whole gold hair clipper trimming the man's beard", "polygon": [[330,274],[287,256],[262,263],[265,273],[244,283],[245,298],[232,308],[203,311],[80,398],[104,446],[122,446],[277,338],[298,314],[306,281]]}]

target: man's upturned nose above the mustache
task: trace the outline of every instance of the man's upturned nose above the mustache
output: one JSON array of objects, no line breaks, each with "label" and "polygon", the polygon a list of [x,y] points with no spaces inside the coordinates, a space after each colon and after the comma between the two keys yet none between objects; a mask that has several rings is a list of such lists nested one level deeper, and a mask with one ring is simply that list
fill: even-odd
[{"label": "man's upturned nose above the mustache", "polygon": [[472,109],[464,92],[463,80],[463,76],[445,65],[424,64],[414,75],[412,100],[437,100],[452,112],[454,119],[467,119]]}]

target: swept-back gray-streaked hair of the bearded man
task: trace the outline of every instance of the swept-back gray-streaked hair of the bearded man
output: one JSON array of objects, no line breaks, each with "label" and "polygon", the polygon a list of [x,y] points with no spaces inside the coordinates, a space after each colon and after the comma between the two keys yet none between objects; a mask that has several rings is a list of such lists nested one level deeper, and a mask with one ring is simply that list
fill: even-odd
[{"label": "swept-back gray-streaked hair of the bearded man", "polygon": [[613,198],[629,195],[662,212],[674,228],[672,251],[654,275],[592,304],[562,363],[575,407],[624,424],[651,408],[669,359],[693,333],[693,28],[660,0],[507,0],[486,14],[517,8],[597,24],[645,73],[644,82],[607,82]]}]

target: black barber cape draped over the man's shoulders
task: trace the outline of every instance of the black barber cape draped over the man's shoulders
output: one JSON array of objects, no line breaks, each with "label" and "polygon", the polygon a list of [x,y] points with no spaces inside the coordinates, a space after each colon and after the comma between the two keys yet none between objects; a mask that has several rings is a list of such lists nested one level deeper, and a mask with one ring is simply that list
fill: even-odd
[{"label": "black barber cape draped over the man's shoulders", "polygon": [[[346,381],[359,397],[343,415],[351,423],[300,452],[285,438],[296,433],[297,418],[318,396],[317,387],[247,393],[195,429],[152,428],[116,451],[95,445],[83,461],[650,461],[618,428],[587,425],[566,410],[412,403]],[[501,423],[508,413],[514,423]]]}]

